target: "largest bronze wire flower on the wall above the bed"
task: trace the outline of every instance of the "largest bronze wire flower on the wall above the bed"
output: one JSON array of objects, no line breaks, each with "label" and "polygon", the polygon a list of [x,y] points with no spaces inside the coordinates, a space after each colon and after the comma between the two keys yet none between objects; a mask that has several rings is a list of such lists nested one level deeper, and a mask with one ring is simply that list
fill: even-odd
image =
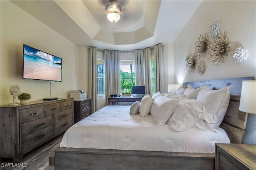
[{"label": "largest bronze wire flower on the wall above the bed", "polygon": [[218,33],[210,44],[210,48],[209,55],[211,57],[209,61],[213,62],[212,65],[219,66],[224,63],[228,57],[228,51],[231,50],[231,41],[229,42],[228,33],[226,31],[224,34]]}]

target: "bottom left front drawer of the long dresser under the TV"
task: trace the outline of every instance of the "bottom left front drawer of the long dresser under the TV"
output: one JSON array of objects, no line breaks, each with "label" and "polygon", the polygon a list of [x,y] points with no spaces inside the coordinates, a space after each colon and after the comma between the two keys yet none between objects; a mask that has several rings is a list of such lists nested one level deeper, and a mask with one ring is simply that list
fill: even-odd
[{"label": "bottom left front drawer of the long dresser under the TV", "polygon": [[32,149],[36,145],[39,145],[45,142],[46,139],[51,138],[54,135],[54,126],[47,127],[36,133],[32,133],[28,136],[23,136],[20,141],[20,152],[23,154],[24,152]]}]

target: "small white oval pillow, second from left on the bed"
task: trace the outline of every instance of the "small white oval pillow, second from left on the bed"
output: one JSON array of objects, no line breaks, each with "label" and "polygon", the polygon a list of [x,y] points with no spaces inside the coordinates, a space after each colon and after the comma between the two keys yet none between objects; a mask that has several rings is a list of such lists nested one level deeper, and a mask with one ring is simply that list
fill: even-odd
[{"label": "small white oval pillow, second from left on the bed", "polygon": [[140,101],[140,116],[145,117],[149,114],[153,99],[149,94],[146,94]]}]

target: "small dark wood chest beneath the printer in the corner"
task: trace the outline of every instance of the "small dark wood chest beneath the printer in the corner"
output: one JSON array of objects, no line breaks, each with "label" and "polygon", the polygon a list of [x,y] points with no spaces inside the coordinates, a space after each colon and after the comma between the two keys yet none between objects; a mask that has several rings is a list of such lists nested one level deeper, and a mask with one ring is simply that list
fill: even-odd
[{"label": "small dark wood chest beneath the printer in the corner", "polygon": [[75,123],[92,114],[92,100],[74,101]]}]

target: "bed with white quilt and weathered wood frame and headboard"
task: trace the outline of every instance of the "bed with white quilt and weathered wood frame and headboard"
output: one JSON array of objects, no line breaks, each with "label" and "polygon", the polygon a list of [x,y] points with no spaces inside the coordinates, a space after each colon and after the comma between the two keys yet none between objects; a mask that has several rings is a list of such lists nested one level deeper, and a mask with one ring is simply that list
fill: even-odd
[{"label": "bed with white quilt and weathered wood frame and headboard", "polygon": [[[215,143],[243,141],[247,113],[238,110],[240,92],[242,80],[253,79],[244,77],[183,83],[181,90],[187,91],[189,88],[195,91],[202,85],[214,92],[228,87],[228,109],[217,127],[214,124],[216,118],[209,118],[204,111],[200,114],[200,121],[195,121],[200,124],[186,123],[186,129],[179,131],[183,125],[178,125],[177,130],[170,119],[165,123],[154,116],[157,107],[155,111],[151,109],[149,115],[130,115],[130,106],[106,106],[68,129],[62,142],[49,152],[49,169],[214,169]],[[187,92],[175,98],[168,96],[172,102],[179,98],[176,107],[171,107],[174,110],[171,117],[178,115],[175,111],[182,108],[183,104],[178,106],[182,103],[180,101],[186,100],[181,100],[182,96],[192,98],[193,94]],[[161,96],[152,97],[163,100]],[[207,104],[200,106],[201,110],[205,109],[204,106]],[[206,107],[209,110],[208,107],[209,104]],[[197,116],[193,115],[193,118]],[[98,132],[102,133],[96,135]]]}]

